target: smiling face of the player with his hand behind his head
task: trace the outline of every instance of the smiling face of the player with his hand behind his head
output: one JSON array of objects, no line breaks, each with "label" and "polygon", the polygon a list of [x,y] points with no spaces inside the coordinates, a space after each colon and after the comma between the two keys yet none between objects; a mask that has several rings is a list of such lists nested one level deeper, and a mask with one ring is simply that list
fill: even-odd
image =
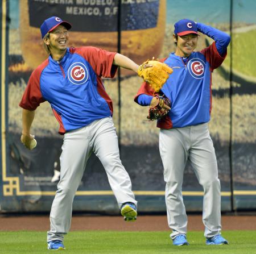
[{"label": "smiling face of the player with his hand behind his head", "polygon": [[187,34],[182,36],[175,36],[174,41],[177,42],[177,48],[175,51],[175,55],[188,57],[191,55],[193,50],[197,45],[197,36],[196,34]]}]

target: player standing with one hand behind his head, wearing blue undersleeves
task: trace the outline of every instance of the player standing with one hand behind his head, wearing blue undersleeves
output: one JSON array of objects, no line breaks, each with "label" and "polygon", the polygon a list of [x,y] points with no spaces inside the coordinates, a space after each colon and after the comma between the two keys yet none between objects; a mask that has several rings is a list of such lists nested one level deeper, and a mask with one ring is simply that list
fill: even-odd
[{"label": "player standing with one hand behind his head, wearing blue undersleeves", "polygon": [[[214,40],[195,52],[201,32]],[[188,245],[187,215],[182,197],[184,168],[190,161],[204,189],[203,223],[208,245],[228,244],[221,235],[221,193],[217,160],[208,130],[212,109],[212,72],[224,61],[230,36],[216,28],[181,19],[174,25],[176,51],[162,59],[173,69],[159,95],[171,101],[171,110],[158,120],[159,149],[166,181],[168,224],[174,245]],[[155,107],[156,93],[145,82],[135,102]]]}]

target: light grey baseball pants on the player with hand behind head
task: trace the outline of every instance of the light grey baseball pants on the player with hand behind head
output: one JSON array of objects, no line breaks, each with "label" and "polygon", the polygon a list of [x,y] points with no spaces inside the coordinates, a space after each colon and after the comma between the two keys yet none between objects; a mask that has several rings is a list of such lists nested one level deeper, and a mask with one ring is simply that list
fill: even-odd
[{"label": "light grey baseball pants on the player with hand behind head", "polygon": [[181,193],[187,160],[192,164],[199,184],[204,189],[204,235],[210,238],[220,234],[220,180],[208,124],[160,130],[159,149],[164,167],[167,219],[172,229],[171,238],[187,233],[187,215]]}]

